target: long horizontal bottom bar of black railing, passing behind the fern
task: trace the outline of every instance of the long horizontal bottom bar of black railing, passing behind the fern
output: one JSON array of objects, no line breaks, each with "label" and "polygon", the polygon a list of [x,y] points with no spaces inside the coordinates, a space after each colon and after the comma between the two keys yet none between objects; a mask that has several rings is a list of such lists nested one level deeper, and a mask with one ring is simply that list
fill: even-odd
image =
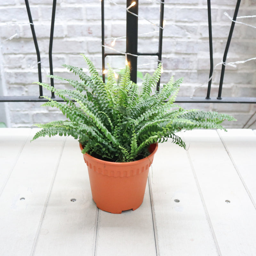
[{"label": "long horizontal bottom bar of black railing, passing behind the fern", "polygon": [[[54,100],[64,101],[60,97],[55,96]],[[0,96],[0,102],[46,102],[45,98],[37,96]],[[205,99],[205,97],[177,97],[176,103],[256,103],[256,97],[223,97],[221,100],[217,98]]]}]

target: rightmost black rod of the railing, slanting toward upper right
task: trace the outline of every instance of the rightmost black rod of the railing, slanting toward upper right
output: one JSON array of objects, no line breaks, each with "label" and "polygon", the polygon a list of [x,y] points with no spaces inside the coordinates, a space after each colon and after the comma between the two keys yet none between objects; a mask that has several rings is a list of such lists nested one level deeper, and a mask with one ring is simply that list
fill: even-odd
[{"label": "rightmost black rod of the railing, slanting toward upper right", "polygon": [[[237,13],[238,13],[238,10],[239,10],[240,2],[241,2],[241,0],[237,0],[237,2],[236,2],[236,9],[235,9],[234,16],[233,16],[234,21],[236,21],[236,17],[237,17]],[[227,60],[228,48],[229,48],[231,38],[232,38],[232,34],[233,34],[233,31],[234,31],[234,27],[235,27],[235,22],[234,21],[232,21],[232,23],[231,23],[231,27],[230,27],[229,35],[228,35],[228,41],[227,41],[225,52],[224,52],[224,55],[223,55],[222,62],[224,62],[224,63]],[[222,92],[222,85],[223,85],[225,67],[226,66],[224,64],[222,64],[221,74],[220,74],[219,94],[218,94],[218,97],[217,97],[218,100],[221,100],[221,92]]]}]

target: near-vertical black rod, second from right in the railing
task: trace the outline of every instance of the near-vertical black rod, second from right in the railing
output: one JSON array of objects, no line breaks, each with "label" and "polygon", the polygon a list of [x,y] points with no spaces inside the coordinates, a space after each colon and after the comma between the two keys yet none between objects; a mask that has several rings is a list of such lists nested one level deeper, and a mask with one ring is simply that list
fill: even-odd
[{"label": "near-vertical black rod, second from right in the railing", "polygon": [[211,93],[211,85],[212,85],[212,74],[213,74],[213,50],[212,50],[212,15],[211,15],[211,0],[207,0],[208,7],[208,28],[209,28],[209,47],[210,47],[210,74],[209,74],[209,82],[208,82],[208,90],[206,98],[207,100],[210,98]]}]

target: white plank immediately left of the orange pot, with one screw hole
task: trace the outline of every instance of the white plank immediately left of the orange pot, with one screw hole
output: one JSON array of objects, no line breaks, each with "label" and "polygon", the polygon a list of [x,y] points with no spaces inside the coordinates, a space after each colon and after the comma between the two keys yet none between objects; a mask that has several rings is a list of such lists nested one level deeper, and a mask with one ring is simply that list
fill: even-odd
[{"label": "white plank immediately left of the orange pot, with one screw hole", "polygon": [[97,215],[79,144],[68,137],[34,255],[93,255]]}]

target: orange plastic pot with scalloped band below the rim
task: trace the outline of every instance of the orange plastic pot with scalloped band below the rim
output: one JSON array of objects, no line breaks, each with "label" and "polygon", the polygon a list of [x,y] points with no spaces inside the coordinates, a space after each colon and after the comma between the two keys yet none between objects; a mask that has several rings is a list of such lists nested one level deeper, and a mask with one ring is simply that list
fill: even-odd
[{"label": "orange plastic pot with scalloped band below the rim", "polygon": [[[81,150],[83,149],[80,144]],[[149,146],[148,157],[128,163],[108,162],[84,154],[97,207],[111,213],[133,211],[143,202],[149,167],[153,162],[158,144]]]}]

